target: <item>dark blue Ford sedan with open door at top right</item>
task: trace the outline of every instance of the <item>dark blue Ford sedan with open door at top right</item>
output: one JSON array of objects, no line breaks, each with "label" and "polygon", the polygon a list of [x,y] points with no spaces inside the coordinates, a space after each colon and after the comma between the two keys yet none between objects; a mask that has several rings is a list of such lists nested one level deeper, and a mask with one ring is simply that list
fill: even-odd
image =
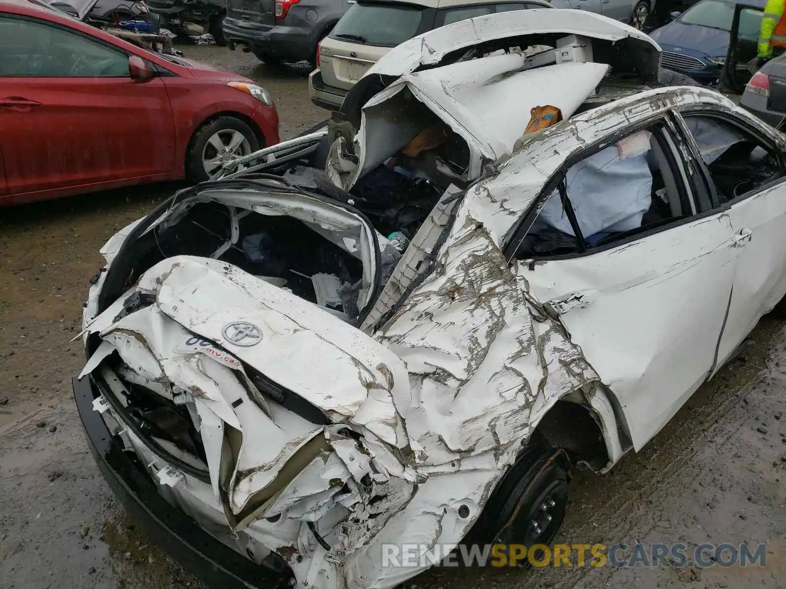
[{"label": "dark blue Ford sedan with open door at top right", "polygon": [[[764,8],[766,0],[745,0]],[[661,49],[661,66],[689,75],[696,82],[714,85],[729,49],[729,31],[736,2],[701,0],[669,24],[650,33]],[[743,10],[740,38],[756,41],[762,13]]]}]

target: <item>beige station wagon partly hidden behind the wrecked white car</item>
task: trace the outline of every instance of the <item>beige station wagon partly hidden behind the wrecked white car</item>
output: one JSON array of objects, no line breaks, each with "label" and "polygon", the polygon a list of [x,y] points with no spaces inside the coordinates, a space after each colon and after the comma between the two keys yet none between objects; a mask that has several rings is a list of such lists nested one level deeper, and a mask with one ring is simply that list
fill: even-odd
[{"label": "beige station wagon partly hidden behind the wrecked white car", "polygon": [[551,7],[545,0],[359,0],[318,47],[308,93],[317,106],[337,110],[347,90],[391,47],[474,16]]}]

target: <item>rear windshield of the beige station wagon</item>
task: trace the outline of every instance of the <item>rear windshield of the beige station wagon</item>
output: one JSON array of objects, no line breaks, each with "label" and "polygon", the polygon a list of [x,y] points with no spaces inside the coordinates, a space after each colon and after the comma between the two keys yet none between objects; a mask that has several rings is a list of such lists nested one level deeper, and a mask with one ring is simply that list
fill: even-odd
[{"label": "rear windshield of the beige station wagon", "polygon": [[333,27],[340,41],[395,47],[431,29],[433,12],[423,6],[395,2],[358,2]]}]

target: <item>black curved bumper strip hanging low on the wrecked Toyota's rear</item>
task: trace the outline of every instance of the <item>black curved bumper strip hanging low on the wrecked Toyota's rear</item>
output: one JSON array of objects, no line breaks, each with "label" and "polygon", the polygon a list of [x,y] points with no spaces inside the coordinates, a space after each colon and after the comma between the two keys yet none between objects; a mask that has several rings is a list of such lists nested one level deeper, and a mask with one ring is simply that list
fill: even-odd
[{"label": "black curved bumper strip hanging low on the wrecked Toyota's rear", "polygon": [[172,507],[156,485],[134,462],[135,456],[109,433],[101,414],[93,410],[99,391],[89,376],[72,379],[79,418],[87,445],[109,488],[152,540],[189,573],[211,587],[226,589],[288,589],[292,573],[257,565],[201,529],[191,518]]}]

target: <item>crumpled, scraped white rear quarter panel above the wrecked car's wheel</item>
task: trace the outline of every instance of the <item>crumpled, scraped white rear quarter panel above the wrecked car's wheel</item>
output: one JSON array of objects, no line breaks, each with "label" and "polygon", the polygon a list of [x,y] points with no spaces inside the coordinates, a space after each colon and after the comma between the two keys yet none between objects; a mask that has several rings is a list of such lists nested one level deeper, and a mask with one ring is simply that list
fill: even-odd
[{"label": "crumpled, scraped white rear quarter panel above the wrecked car's wheel", "polygon": [[428,465],[504,452],[527,437],[538,408],[597,379],[558,324],[533,321],[479,220],[489,211],[476,204],[459,210],[439,251],[440,272],[413,290],[378,336],[410,371],[411,400],[399,409]]}]

